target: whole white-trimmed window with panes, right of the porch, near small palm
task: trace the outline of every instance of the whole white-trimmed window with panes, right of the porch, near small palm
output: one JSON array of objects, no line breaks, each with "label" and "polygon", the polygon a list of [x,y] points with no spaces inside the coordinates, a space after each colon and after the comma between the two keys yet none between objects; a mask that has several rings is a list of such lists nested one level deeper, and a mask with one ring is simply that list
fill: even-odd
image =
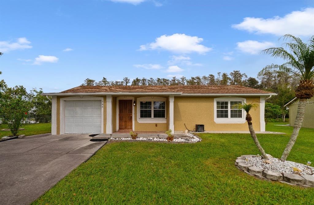
[{"label": "whole white-trimmed window with panes, right of the porch, near small palm", "polygon": [[216,123],[243,123],[245,114],[239,104],[246,102],[240,97],[220,97],[214,99],[214,121]]}]

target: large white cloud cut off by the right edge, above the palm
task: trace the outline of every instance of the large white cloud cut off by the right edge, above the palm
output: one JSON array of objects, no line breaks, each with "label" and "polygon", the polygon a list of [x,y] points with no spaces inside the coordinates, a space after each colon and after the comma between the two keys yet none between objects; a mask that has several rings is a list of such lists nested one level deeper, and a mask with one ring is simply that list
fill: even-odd
[{"label": "large white cloud cut off by the right edge, above the palm", "polygon": [[275,16],[270,19],[246,17],[233,28],[256,32],[259,34],[311,36],[314,31],[314,8],[293,11],[284,17]]}]

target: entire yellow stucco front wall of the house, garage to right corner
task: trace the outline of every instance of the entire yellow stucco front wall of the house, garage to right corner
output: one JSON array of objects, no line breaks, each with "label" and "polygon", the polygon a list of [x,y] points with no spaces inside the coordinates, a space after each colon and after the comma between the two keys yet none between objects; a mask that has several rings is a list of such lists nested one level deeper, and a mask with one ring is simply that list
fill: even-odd
[{"label": "entire yellow stucco front wall of the house, garage to right corner", "polygon": [[[57,134],[60,134],[60,99],[69,96],[57,96]],[[104,98],[104,133],[106,133],[106,96],[97,96]],[[134,100],[137,102],[138,97],[145,96],[134,96]],[[147,96],[146,96],[147,97]],[[166,131],[169,129],[169,97],[158,96],[166,98],[166,123],[139,123],[137,121],[137,109],[134,107],[134,128],[135,131]],[[259,97],[245,97],[246,103],[257,103],[259,104]],[[204,124],[206,131],[247,131],[247,123],[234,123],[234,124],[217,124],[214,122],[214,98],[216,97],[182,97],[177,96],[174,98],[174,126],[175,131],[186,130],[184,123],[186,123],[188,129],[194,129],[195,124]],[[116,131],[116,104],[117,97],[112,96],[112,130]],[[291,107],[291,106],[290,106]],[[291,110],[292,111],[292,110]],[[256,131],[260,131],[260,109],[251,111],[253,119],[253,127]],[[314,115],[309,111],[310,115]],[[156,126],[157,125],[157,126]]]}]

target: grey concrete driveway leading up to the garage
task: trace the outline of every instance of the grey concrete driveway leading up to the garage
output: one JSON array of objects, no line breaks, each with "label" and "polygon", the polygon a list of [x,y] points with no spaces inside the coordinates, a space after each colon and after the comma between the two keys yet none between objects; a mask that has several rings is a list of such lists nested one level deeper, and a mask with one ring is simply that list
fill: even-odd
[{"label": "grey concrete driveway leading up to the garage", "polygon": [[30,204],[106,142],[87,134],[37,135],[0,142],[0,204]]}]

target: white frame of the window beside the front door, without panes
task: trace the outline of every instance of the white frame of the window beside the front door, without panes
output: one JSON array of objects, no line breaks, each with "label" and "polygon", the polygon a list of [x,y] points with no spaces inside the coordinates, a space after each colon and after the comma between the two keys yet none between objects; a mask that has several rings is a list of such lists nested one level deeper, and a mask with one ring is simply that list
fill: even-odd
[{"label": "white frame of the window beside the front door, without panes", "polygon": [[[166,123],[167,122],[167,99],[162,97],[141,97],[136,99],[137,104],[137,121],[139,123]],[[151,118],[141,118],[140,117],[140,102],[141,101],[150,101],[152,102],[152,117]],[[165,102],[165,118],[154,118],[154,101],[163,101]]]}]

